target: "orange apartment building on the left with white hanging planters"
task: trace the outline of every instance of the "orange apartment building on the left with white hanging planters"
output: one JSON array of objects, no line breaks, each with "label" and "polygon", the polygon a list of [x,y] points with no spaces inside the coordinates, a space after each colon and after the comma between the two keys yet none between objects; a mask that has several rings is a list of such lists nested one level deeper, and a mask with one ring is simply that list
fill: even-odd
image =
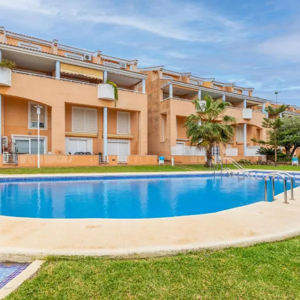
[{"label": "orange apartment building on the left with white hanging planters", "polygon": [[[131,157],[135,163],[147,162],[142,157],[147,154],[147,76],[137,71],[137,60],[3,27],[1,58],[16,64],[12,71],[0,69],[0,132],[6,150],[17,150],[19,164],[21,157],[34,164],[31,154],[37,153],[37,147],[44,164],[93,164],[97,162],[93,155],[74,154],[99,152],[101,161],[115,155],[114,163],[128,162],[136,155]],[[117,86],[117,101],[107,80]],[[37,105],[41,106],[39,145]]]}]

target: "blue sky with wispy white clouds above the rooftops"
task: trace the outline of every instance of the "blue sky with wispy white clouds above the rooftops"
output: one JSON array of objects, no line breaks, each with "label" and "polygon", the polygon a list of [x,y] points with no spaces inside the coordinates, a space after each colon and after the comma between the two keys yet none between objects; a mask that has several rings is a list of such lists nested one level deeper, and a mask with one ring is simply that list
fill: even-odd
[{"label": "blue sky with wispy white clouds above the rooftops", "polygon": [[0,26],[300,106],[299,0],[0,0]]}]

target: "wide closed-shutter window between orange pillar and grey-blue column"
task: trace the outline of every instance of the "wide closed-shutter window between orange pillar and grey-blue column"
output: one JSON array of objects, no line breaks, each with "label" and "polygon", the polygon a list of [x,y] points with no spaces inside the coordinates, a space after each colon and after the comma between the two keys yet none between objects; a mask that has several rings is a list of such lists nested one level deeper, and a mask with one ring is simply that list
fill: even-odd
[{"label": "wide closed-shutter window between orange pillar and grey-blue column", "polygon": [[72,106],[72,131],[97,132],[97,109]]}]

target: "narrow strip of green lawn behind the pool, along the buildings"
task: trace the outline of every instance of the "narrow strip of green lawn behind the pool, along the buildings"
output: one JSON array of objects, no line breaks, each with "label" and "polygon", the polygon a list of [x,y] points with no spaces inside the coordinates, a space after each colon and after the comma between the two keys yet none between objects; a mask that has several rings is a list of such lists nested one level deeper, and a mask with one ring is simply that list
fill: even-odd
[{"label": "narrow strip of green lawn behind the pool, along the buildings", "polygon": [[[219,167],[219,166],[218,166]],[[229,168],[234,168],[228,165]],[[245,168],[278,169],[300,171],[300,166],[291,165],[244,165]],[[101,172],[157,172],[157,171],[209,171],[202,164],[187,165],[116,165],[116,166],[70,166],[41,168],[0,168],[0,174],[37,174],[37,173],[101,173]]]}]

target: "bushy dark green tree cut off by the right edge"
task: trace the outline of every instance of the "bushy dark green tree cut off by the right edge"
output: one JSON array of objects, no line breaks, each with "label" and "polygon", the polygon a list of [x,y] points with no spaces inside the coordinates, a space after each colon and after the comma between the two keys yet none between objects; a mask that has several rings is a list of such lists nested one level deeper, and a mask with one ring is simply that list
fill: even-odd
[{"label": "bushy dark green tree cut off by the right edge", "polygon": [[300,118],[284,116],[276,134],[278,145],[284,147],[286,157],[292,157],[295,150],[300,148]]}]

